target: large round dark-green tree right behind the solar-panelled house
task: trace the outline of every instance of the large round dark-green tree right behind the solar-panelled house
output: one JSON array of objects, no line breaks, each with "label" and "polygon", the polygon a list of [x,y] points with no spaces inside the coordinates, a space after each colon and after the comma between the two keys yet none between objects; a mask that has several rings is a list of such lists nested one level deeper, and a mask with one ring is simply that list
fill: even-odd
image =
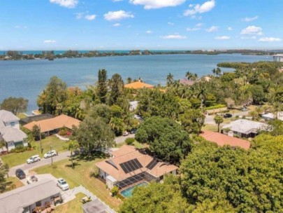
[{"label": "large round dark-green tree right behind the solar-panelled house", "polygon": [[138,128],[135,139],[150,145],[161,160],[179,163],[191,149],[189,134],[170,118],[147,118]]}]

